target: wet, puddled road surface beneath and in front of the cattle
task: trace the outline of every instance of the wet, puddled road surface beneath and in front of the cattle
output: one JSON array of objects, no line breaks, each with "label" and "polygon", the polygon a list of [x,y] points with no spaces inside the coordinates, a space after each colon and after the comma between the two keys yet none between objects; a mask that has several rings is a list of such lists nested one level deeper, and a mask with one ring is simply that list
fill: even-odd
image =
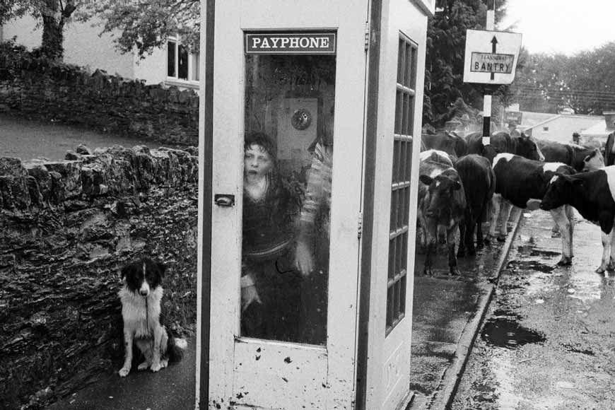
[{"label": "wet, puddled road surface beneath and in front of the cattle", "polygon": [[527,213],[452,410],[615,409],[615,274],[595,274],[600,230],[577,215],[573,265],[556,267],[551,216]]}]

